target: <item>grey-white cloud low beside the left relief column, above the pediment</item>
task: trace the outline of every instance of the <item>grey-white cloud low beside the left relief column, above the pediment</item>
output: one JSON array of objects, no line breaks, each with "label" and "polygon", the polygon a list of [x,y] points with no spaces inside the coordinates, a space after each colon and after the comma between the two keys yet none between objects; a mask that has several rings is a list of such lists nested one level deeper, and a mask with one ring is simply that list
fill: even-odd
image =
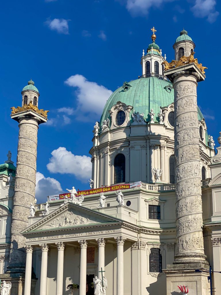
[{"label": "grey-white cloud low beside the left relief column, above the pediment", "polygon": [[47,196],[61,194],[62,191],[60,182],[55,178],[46,178],[42,173],[36,173],[35,197],[37,203],[46,202]]}]

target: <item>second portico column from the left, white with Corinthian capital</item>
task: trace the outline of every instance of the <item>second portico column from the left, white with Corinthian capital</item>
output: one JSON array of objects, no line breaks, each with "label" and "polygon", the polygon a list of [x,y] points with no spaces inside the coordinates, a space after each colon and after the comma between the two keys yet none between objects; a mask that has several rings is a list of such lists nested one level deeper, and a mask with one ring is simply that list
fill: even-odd
[{"label": "second portico column from the left, white with Corinthian capital", "polygon": [[49,247],[47,244],[41,244],[39,246],[42,249],[40,295],[46,295],[47,294],[47,253],[48,253]]}]

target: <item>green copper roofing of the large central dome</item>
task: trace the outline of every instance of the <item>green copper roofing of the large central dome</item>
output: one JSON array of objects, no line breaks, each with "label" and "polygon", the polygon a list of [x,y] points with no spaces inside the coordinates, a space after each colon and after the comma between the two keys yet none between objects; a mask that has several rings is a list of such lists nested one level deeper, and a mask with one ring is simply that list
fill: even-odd
[{"label": "green copper roofing of the large central dome", "polygon": [[[149,77],[132,80],[128,82],[128,84],[131,86],[128,91],[124,91],[121,86],[111,94],[103,109],[100,125],[102,125],[102,122],[107,118],[111,121],[109,110],[118,101],[133,106],[133,109],[130,112],[131,123],[133,122],[133,112],[139,112],[140,114],[144,113],[145,121],[150,121],[149,112],[151,109],[153,109],[155,113],[154,121],[158,122],[160,107],[168,106],[174,102],[174,89],[170,81],[161,80],[156,77]],[[171,92],[168,91],[168,88]],[[203,115],[198,107],[198,120],[201,121],[202,119]],[[206,142],[208,142],[208,134],[207,132],[205,133]]]}]

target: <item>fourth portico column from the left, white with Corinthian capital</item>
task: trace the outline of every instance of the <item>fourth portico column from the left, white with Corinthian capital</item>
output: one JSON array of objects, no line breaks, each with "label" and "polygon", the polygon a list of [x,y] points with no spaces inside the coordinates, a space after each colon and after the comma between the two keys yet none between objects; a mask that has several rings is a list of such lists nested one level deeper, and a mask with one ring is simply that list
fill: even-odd
[{"label": "fourth portico column from the left, white with Corinthian capital", "polygon": [[79,295],[86,294],[86,275],[87,275],[87,241],[80,240],[80,287]]}]

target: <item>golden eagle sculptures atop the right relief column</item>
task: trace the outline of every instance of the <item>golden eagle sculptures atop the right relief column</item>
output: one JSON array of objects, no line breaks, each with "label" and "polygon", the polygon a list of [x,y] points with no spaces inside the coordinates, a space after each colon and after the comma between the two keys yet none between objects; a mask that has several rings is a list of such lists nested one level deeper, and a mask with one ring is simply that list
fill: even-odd
[{"label": "golden eagle sculptures atop the right relief column", "polygon": [[171,63],[168,63],[166,60],[161,63],[162,65],[164,65],[164,71],[173,69],[173,68],[177,68],[180,67],[182,65],[188,65],[190,63],[194,63],[197,68],[199,68],[199,70],[204,74],[205,73],[205,69],[207,69],[207,67],[203,67],[202,63],[198,63],[197,58],[194,58],[194,51],[191,52],[191,54],[189,56],[182,56],[179,60],[172,60]]}]

